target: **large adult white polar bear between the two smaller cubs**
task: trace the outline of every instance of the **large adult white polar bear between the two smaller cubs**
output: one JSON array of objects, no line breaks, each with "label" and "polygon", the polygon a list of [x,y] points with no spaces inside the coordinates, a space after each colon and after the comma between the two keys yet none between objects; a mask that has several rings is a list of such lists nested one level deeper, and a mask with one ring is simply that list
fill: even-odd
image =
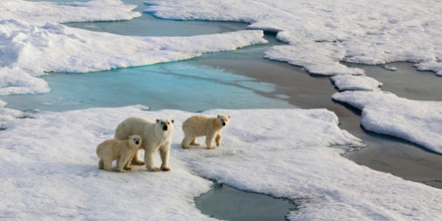
[{"label": "large adult white polar bear between the two smaller cubs", "polygon": [[[145,163],[148,171],[168,171],[170,170],[169,155],[170,143],[173,133],[173,120],[156,119],[151,121],[140,116],[130,116],[119,123],[115,130],[115,139],[127,138],[130,134],[140,134],[142,144],[140,149],[145,150]],[[131,163],[134,165],[144,165],[140,161],[140,149],[133,156]],[[155,152],[159,151],[161,156],[161,168],[154,165]],[[128,165],[130,168],[130,166]]]}]

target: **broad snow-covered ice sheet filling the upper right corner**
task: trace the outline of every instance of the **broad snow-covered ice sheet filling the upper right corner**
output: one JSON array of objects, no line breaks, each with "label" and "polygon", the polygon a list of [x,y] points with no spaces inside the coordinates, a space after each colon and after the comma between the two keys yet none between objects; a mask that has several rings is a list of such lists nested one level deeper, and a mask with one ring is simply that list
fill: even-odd
[{"label": "broad snow-covered ice sheet filling the upper right corner", "polygon": [[264,57],[300,65],[314,74],[363,74],[340,61],[380,65],[417,62],[442,75],[440,1],[147,1],[160,18],[229,20],[278,32],[288,46]]}]

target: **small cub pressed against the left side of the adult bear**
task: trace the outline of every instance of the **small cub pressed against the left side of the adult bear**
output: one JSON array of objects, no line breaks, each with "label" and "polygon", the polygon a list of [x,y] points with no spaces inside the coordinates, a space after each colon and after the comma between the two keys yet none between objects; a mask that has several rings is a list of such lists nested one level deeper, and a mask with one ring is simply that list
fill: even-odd
[{"label": "small cub pressed against the left side of the adult bear", "polygon": [[105,140],[97,146],[97,156],[100,158],[98,168],[112,170],[112,161],[116,161],[116,170],[126,172],[124,166],[132,159],[140,148],[142,139],[139,135],[130,135],[129,140]]}]

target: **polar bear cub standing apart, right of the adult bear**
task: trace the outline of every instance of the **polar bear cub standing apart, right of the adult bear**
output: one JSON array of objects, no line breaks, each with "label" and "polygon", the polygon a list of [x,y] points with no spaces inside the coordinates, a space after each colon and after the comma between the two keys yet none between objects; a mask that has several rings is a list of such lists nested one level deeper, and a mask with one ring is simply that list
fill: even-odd
[{"label": "polar bear cub standing apart, right of the adult bear", "polygon": [[196,142],[197,137],[206,136],[207,149],[214,149],[212,146],[213,138],[216,141],[216,147],[220,147],[220,131],[229,123],[230,116],[218,115],[217,117],[207,117],[203,115],[191,116],[182,123],[182,131],[185,138],[181,142],[182,148],[189,148],[189,145],[199,146]]}]

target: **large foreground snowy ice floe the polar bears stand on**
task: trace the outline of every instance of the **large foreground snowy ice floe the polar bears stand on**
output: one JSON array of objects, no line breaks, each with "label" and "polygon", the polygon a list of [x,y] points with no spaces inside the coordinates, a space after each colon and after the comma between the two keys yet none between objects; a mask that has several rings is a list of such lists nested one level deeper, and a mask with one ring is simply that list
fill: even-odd
[{"label": "large foreground snowy ice floe the polar bears stand on", "polygon": [[[145,107],[41,112],[0,132],[0,217],[208,220],[194,205],[212,178],[300,201],[290,219],[438,220],[439,189],[370,170],[330,145],[361,145],[326,109],[217,109],[229,114],[218,149],[182,149],[181,122],[194,113]],[[95,147],[127,116],[173,118],[168,173],[98,170]],[[159,156],[156,163],[159,163]],[[410,191],[413,189],[413,191]],[[73,194],[74,193],[74,194]],[[135,203],[134,203],[135,202]]]}]

